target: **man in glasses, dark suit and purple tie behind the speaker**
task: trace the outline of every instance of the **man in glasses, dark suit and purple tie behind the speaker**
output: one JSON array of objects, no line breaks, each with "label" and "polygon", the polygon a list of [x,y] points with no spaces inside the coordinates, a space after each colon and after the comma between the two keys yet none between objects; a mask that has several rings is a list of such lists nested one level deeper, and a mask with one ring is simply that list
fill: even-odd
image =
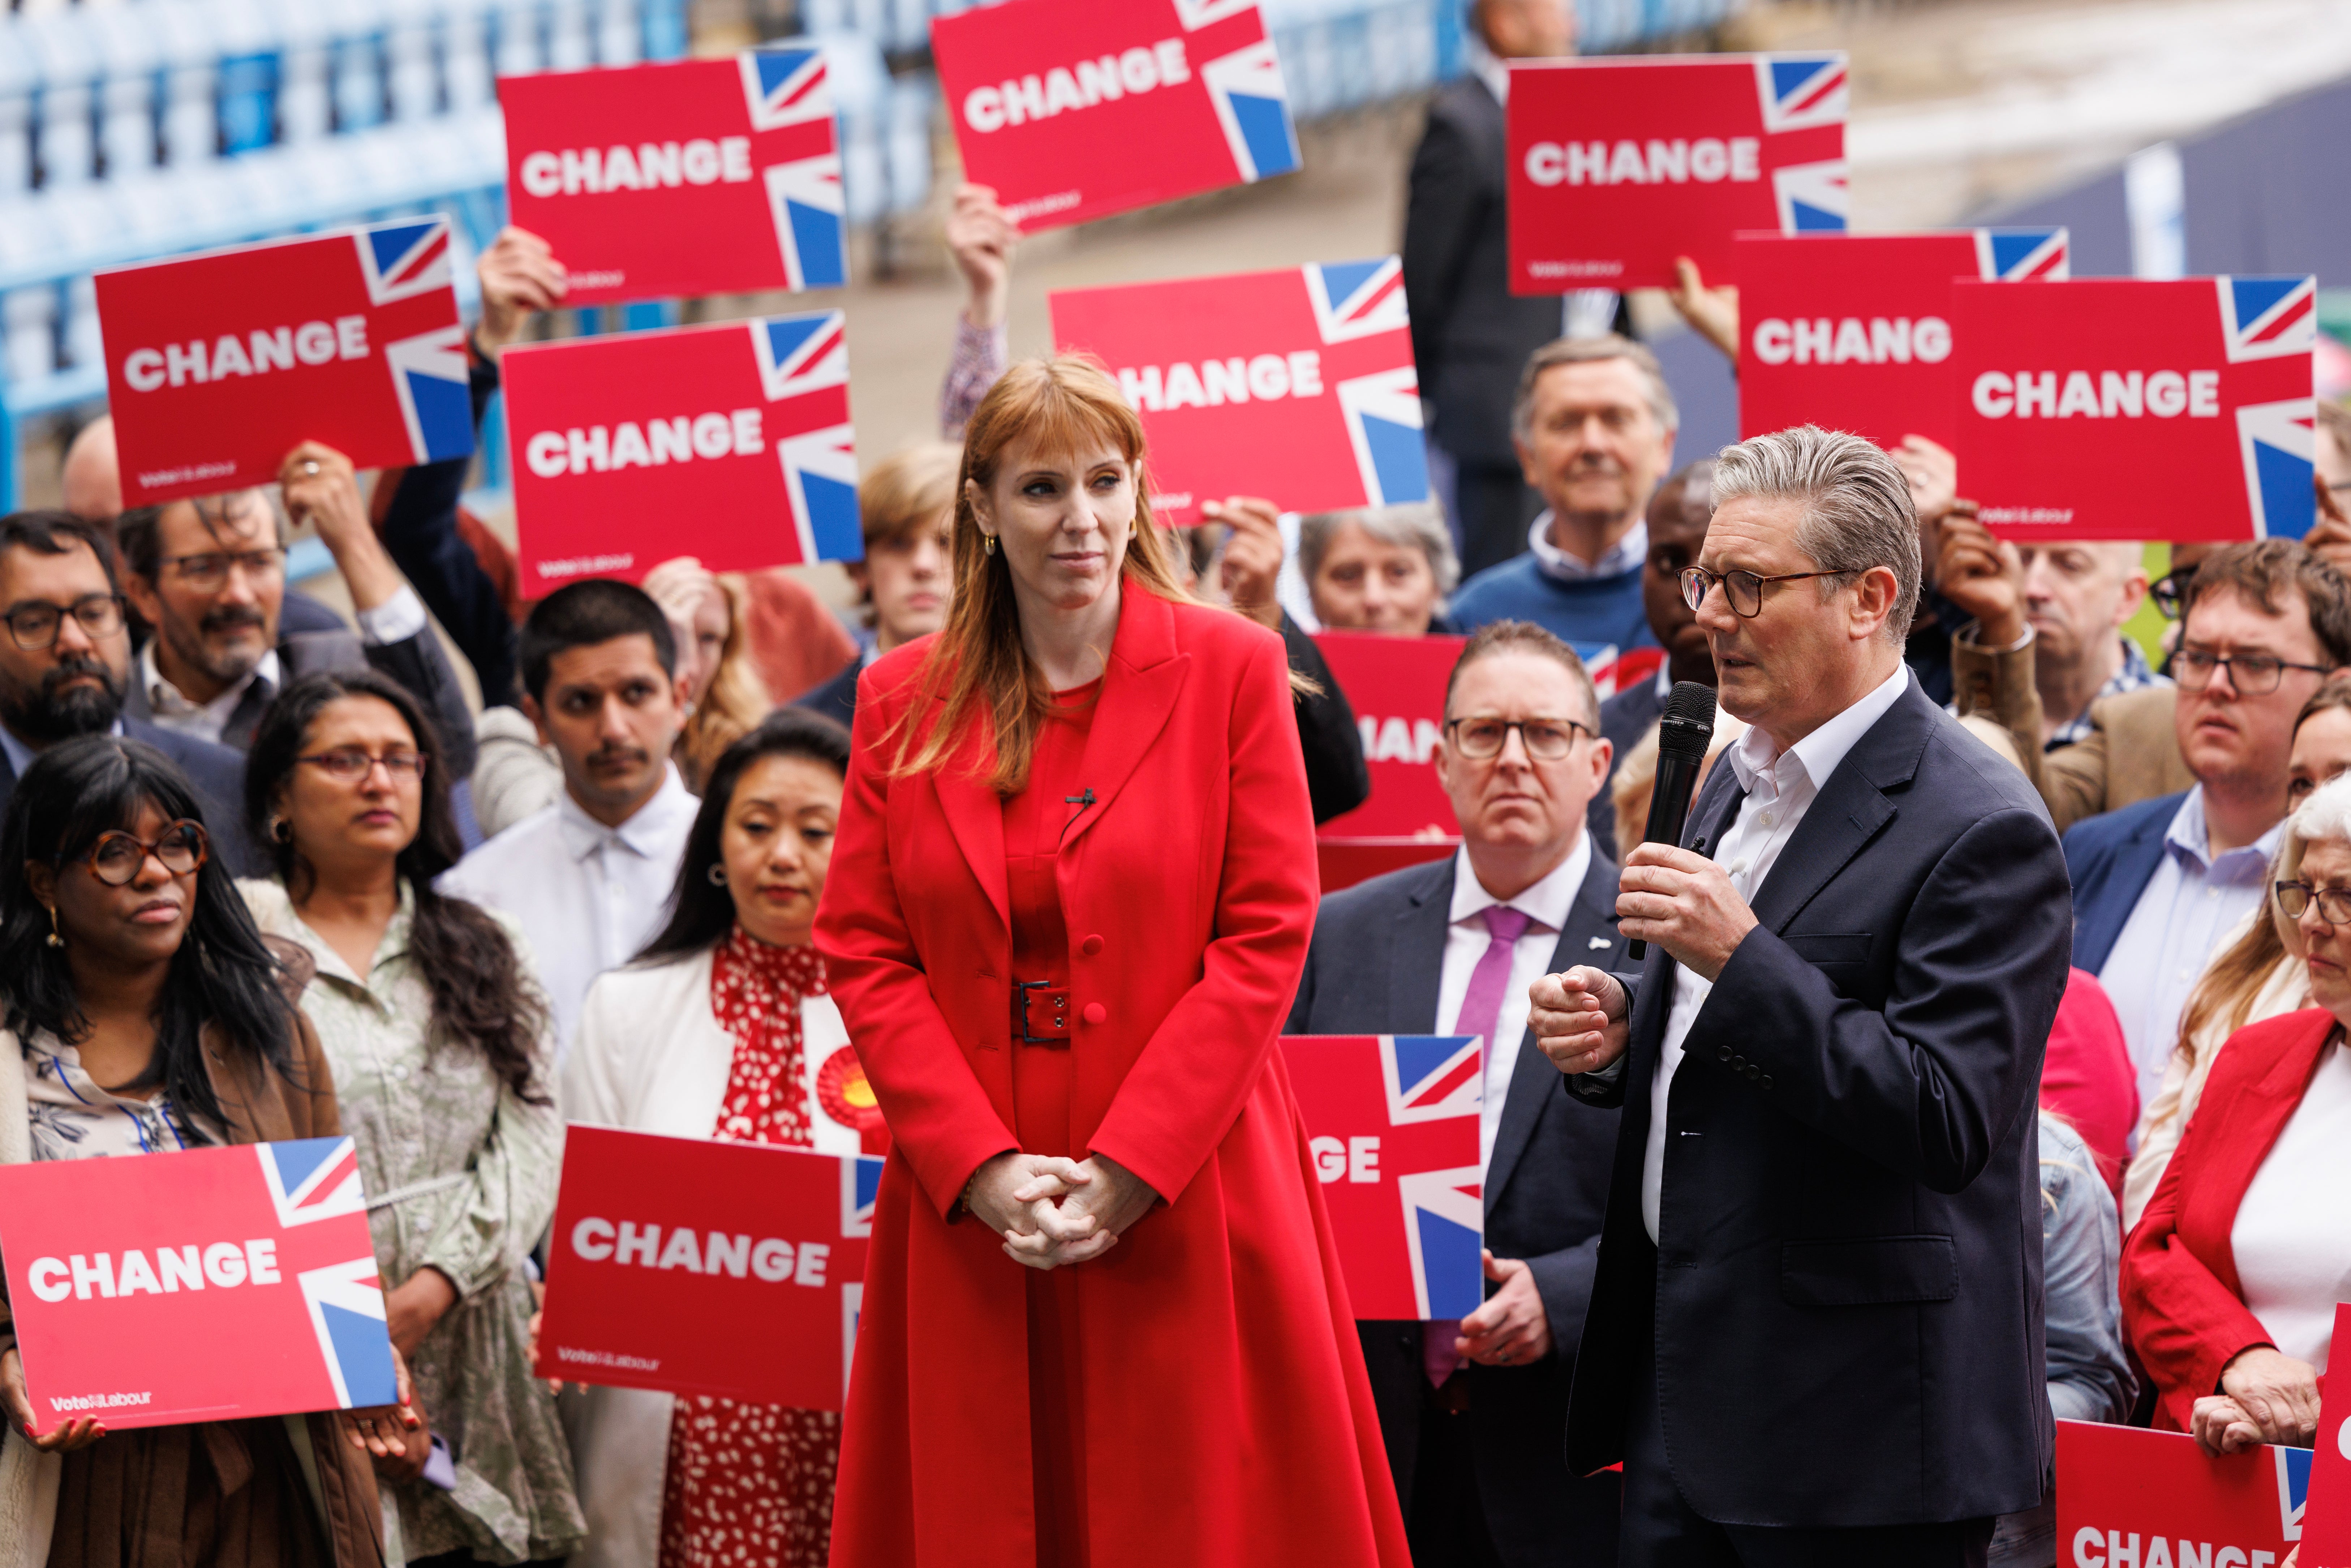
[{"label": "man in glasses, dark suit and purple tie behind the speaker", "polygon": [[[1451,686],[1436,769],[1462,849],[1324,900],[1288,1032],[1498,1041],[1483,1117],[1498,1288],[1458,1333],[1357,1328],[1413,1563],[1599,1568],[1615,1563],[1615,1476],[1568,1476],[1559,1455],[1613,1119],[1568,1103],[1523,1018],[1538,976],[1617,945],[1615,863],[1582,827],[1608,745],[1592,736],[1592,679],[1540,628],[1483,628]],[[1514,719],[1533,738],[1500,729],[1495,755],[1467,755]]]}]

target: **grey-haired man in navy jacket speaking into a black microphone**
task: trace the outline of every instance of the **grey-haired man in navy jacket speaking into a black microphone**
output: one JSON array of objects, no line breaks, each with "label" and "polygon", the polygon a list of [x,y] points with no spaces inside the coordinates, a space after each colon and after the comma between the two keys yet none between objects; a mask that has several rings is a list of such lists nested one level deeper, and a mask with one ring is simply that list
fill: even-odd
[{"label": "grey-haired man in navy jacket speaking into a black microphone", "polygon": [[1627,856],[1646,969],[1535,987],[1570,1093],[1622,1107],[1568,1469],[1625,1462],[1627,1561],[1982,1563],[2055,1446],[2034,1095],[2064,858],[1902,665],[1893,461],[1784,430],[1714,494],[1697,618],[1754,729],[1683,846]]}]

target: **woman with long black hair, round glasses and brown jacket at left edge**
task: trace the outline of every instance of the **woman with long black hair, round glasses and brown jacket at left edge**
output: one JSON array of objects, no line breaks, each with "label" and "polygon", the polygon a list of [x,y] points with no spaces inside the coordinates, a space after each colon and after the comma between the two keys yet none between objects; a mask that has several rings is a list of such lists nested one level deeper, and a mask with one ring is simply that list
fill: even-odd
[{"label": "woman with long black hair, round glasses and brown jacket at left edge", "polygon": [[[0,1164],[341,1135],[334,1074],[287,994],[299,954],[289,971],[254,929],[162,752],[115,736],[42,752],[0,820]],[[132,1432],[85,1418],[33,1439],[7,1302],[0,1403],[9,1568],[376,1568],[369,1455],[421,1448],[395,1410]]]}]

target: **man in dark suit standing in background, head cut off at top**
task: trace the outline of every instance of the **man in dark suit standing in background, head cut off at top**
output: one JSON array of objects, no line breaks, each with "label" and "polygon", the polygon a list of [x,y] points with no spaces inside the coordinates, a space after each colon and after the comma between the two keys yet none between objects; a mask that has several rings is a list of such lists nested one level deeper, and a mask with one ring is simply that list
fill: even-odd
[{"label": "man in dark suit standing in background, head cut off at top", "polygon": [[1526,357],[1559,336],[1559,296],[1509,292],[1507,59],[1575,54],[1563,0],[1476,0],[1469,71],[1429,99],[1404,205],[1404,296],[1429,437],[1455,463],[1462,576],[1526,550],[1540,501],[1509,440]]}]

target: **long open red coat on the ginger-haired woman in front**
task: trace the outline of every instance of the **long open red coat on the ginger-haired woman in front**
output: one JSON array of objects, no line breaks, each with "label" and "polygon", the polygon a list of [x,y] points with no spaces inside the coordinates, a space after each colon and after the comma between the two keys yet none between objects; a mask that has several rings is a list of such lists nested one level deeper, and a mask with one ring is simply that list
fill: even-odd
[{"label": "long open red coat on the ginger-haired woman in front", "polygon": [[[1004,818],[978,741],[891,780],[929,639],[860,679],[816,922],[891,1128],[832,1514],[837,1568],[1037,1561],[1025,1269],[950,1222],[1020,1140]],[[1166,1201],[1079,1267],[1103,1568],[1406,1568],[1380,1422],[1274,1037],[1314,922],[1281,642],[1128,583],[1063,839],[1074,1147]]]}]

